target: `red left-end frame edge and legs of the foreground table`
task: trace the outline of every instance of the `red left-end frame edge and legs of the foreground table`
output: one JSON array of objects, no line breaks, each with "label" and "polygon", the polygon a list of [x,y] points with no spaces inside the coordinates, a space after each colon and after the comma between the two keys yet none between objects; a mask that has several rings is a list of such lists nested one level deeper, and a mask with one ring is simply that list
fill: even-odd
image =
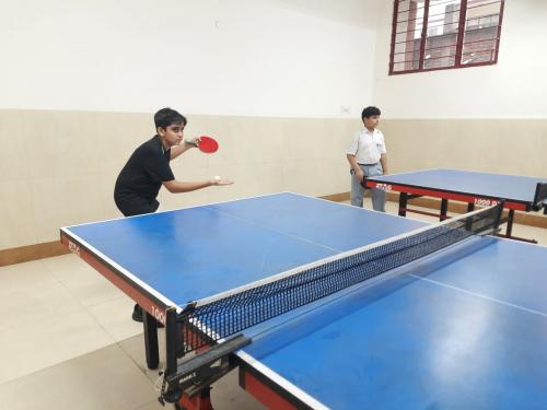
[{"label": "red left-end frame edge and legs of the foreground table", "polygon": [[[147,365],[149,368],[158,368],[160,364],[160,351],[158,343],[158,323],[165,326],[165,372],[164,378],[176,375],[178,371],[177,364],[177,345],[182,341],[181,328],[177,323],[177,312],[175,304],[167,305],[138,282],[132,281],[119,269],[114,267],[107,260],[102,259],[97,255],[78,241],[75,237],[61,229],[60,242],[68,249],[86,261],[98,273],[105,277],[109,282],[116,285],[120,291],[127,294],[131,300],[138,303],[146,317],[143,317],[143,333],[144,333],[144,353]],[[222,373],[222,375],[225,373]],[[220,377],[221,375],[219,375]],[[217,377],[216,379],[218,379]],[[216,379],[212,379],[214,382]],[[196,389],[191,395],[183,391],[182,396],[173,396],[173,401],[177,409],[187,410],[212,410],[210,401],[210,387]],[[162,397],[163,399],[163,397]],[[168,400],[171,402],[171,400]],[[162,402],[163,403],[163,402]]]}]

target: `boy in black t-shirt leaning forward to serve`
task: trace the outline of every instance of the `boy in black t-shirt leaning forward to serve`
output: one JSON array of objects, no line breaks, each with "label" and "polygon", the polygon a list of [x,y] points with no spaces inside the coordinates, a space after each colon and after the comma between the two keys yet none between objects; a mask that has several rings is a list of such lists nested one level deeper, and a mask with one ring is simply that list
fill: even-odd
[{"label": "boy in black t-shirt leaning forward to serve", "polygon": [[[160,109],[154,115],[154,122],[158,133],[135,150],[116,179],[114,200],[125,216],[155,212],[160,206],[156,197],[162,185],[170,192],[177,194],[233,184],[219,177],[193,183],[176,180],[170,161],[196,147],[197,140],[187,139],[183,142],[187,121],[174,109]],[[139,305],[135,305],[132,318],[142,321]]]}]

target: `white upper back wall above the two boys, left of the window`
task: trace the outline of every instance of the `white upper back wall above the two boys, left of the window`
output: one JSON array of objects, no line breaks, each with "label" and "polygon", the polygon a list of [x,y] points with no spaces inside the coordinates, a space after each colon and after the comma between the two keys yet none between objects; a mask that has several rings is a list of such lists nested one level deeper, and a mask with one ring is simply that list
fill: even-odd
[{"label": "white upper back wall above the two boys, left of the window", "polygon": [[354,117],[377,4],[2,0],[0,108]]}]

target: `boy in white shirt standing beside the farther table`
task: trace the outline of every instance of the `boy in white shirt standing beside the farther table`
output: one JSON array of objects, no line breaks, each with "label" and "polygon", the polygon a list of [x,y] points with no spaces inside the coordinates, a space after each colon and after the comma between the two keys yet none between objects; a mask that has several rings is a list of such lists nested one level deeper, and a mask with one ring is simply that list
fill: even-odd
[{"label": "boy in white shirt standing beside the farther table", "polygon": [[[380,122],[380,109],[366,107],[361,114],[364,129],[351,139],[347,152],[351,166],[351,204],[363,207],[364,188],[361,181],[364,176],[387,174],[387,155],[384,134],[376,129]],[[372,188],[372,208],[385,212],[385,191]]]}]

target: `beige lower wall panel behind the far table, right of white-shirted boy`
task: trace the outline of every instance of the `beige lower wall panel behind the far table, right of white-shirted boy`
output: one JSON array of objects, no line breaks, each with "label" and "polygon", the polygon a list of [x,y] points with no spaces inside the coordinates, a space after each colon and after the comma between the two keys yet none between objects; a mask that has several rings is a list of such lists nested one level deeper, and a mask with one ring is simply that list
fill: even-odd
[{"label": "beige lower wall panel behind the far table, right of white-shirted boy", "polygon": [[547,176],[547,120],[386,119],[382,130],[393,173],[451,167]]}]

